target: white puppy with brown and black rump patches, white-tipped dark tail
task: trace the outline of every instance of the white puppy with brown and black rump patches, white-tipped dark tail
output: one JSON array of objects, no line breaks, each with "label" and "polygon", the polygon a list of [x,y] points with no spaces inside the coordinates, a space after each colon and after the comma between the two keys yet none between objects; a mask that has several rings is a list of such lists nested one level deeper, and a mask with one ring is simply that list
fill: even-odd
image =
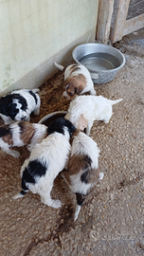
[{"label": "white puppy with brown and black rump patches, white-tipped dark tail", "polygon": [[99,173],[98,167],[99,148],[97,143],[91,137],[76,130],[72,137],[72,148],[67,170],[61,173],[70,190],[77,197],[75,221],[86,195],[92,192],[103,178],[103,173]]}]

